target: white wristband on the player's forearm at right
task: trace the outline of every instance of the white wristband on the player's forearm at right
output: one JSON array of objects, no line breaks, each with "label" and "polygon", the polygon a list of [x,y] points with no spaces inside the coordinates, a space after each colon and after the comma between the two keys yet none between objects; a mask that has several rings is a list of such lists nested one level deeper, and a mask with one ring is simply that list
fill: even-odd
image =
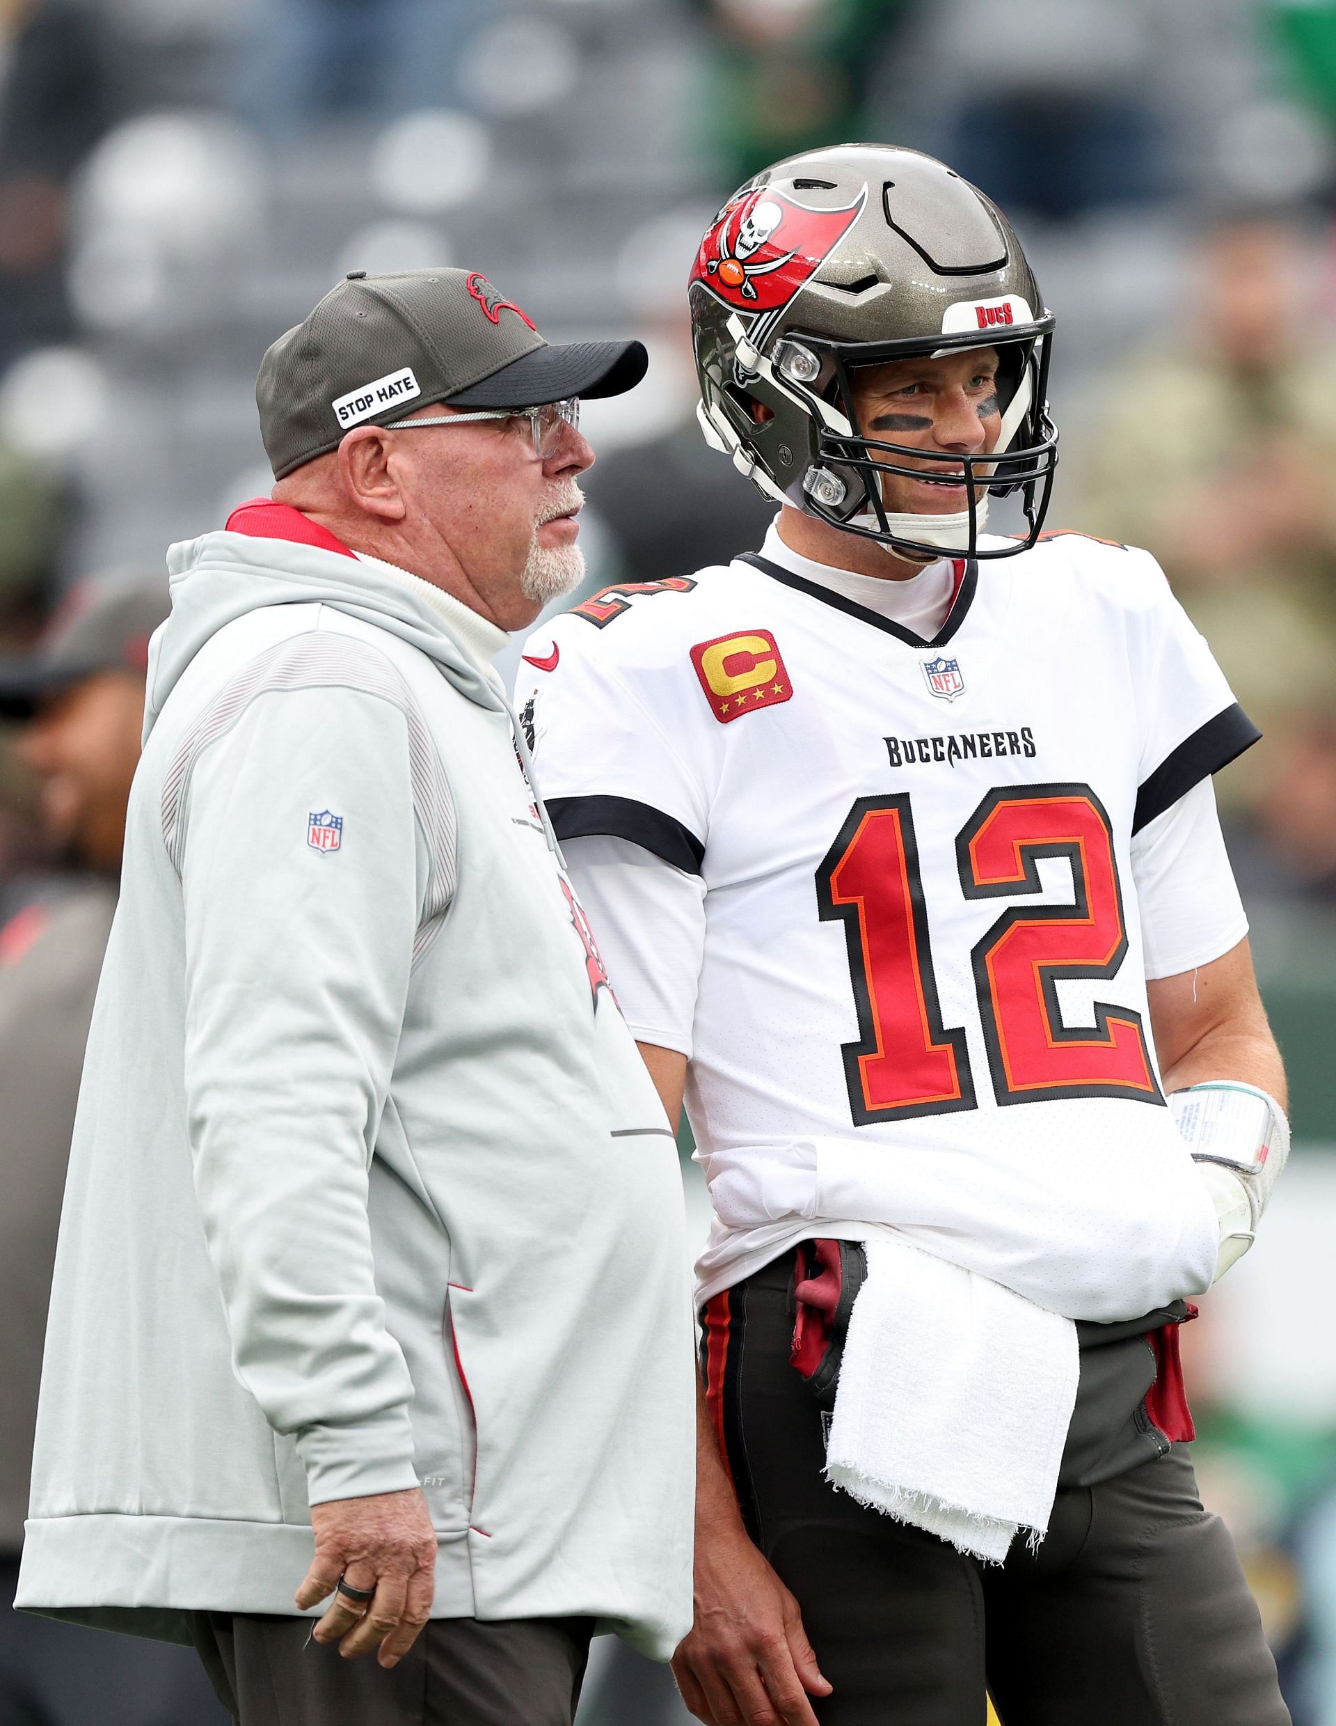
[{"label": "white wristband on the player's forearm at right", "polygon": [[1289,1156],[1289,1122],[1274,1096],[1234,1079],[1208,1079],[1174,1091],[1169,1112],[1215,1203],[1219,1282],[1257,1238]]}]

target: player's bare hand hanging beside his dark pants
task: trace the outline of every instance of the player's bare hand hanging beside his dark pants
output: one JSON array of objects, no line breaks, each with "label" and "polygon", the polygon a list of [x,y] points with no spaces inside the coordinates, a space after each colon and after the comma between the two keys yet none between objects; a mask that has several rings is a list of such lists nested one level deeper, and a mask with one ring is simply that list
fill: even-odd
[{"label": "player's bare hand hanging beside his dark pants", "polygon": [[817,1726],[829,1697],[798,1602],[762,1559],[736,1507],[696,1524],[696,1616],[672,1657],[683,1702],[705,1726]]}]

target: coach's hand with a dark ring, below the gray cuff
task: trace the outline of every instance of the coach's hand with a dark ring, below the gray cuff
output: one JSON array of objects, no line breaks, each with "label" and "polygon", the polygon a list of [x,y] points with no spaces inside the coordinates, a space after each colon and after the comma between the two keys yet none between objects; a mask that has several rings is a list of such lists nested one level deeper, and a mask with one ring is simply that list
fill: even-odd
[{"label": "coach's hand with a dark ring, below the gray cuff", "polygon": [[[334,1498],[310,1507],[315,1557],[297,1590],[309,1607],[334,1595],[314,1629],[315,1641],[336,1641],[346,1660],[378,1648],[381,1666],[395,1666],[417,1640],[436,1588],[436,1529],[421,1491]],[[350,1588],[374,1588],[367,1602],[334,1593],[340,1576]]]}]

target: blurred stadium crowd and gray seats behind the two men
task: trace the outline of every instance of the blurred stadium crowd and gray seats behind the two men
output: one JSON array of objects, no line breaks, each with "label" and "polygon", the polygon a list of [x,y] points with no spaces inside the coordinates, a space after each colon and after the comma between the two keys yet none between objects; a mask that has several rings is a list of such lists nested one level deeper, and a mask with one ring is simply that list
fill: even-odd
[{"label": "blurred stadium crowd and gray seats behind the two men", "polygon": [[[0,658],[31,673],[0,715],[0,1576],[136,656],[165,545],[267,490],[260,352],[343,269],[434,262],[557,338],[640,333],[648,383],[586,416],[590,583],[686,573],[769,518],[695,426],[696,238],[765,162],[857,136],[1007,209],[1058,314],[1050,525],[1153,551],[1264,727],[1217,789],[1314,1148],[1295,1227],[1336,1217],[1336,0],[0,0]],[[1255,1257],[1241,1286],[1286,1312],[1293,1272]],[[1295,1721],[1333,1726],[1336,1360],[1289,1319],[1246,1355],[1241,1296],[1208,1308],[1200,1474]],[[7,1723],[210,1717],[91,1631],[55,1666],[117,1710],[52,1700],[29,1667],[60,1628],[0,1619]],[[603,1660],[581,1719],[674,1709]]]}]

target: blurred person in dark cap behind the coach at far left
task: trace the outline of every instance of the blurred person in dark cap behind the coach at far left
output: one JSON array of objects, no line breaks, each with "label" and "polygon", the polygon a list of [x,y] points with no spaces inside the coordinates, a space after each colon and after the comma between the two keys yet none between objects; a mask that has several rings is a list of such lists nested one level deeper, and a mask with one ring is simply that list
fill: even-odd
[{"label": "blurred person in dark cap behind the coach at far left", "polygon": [[55,1232],[93,991],[115,910],[140,756],[148,635],[164,576],[76,589],[36,656],[0,665],[0,711],[26,718],[59,866],[0,899],[0,1719],[5,1726],[222,1726],[193,1648],[10,1612],[28,1514]]}]

